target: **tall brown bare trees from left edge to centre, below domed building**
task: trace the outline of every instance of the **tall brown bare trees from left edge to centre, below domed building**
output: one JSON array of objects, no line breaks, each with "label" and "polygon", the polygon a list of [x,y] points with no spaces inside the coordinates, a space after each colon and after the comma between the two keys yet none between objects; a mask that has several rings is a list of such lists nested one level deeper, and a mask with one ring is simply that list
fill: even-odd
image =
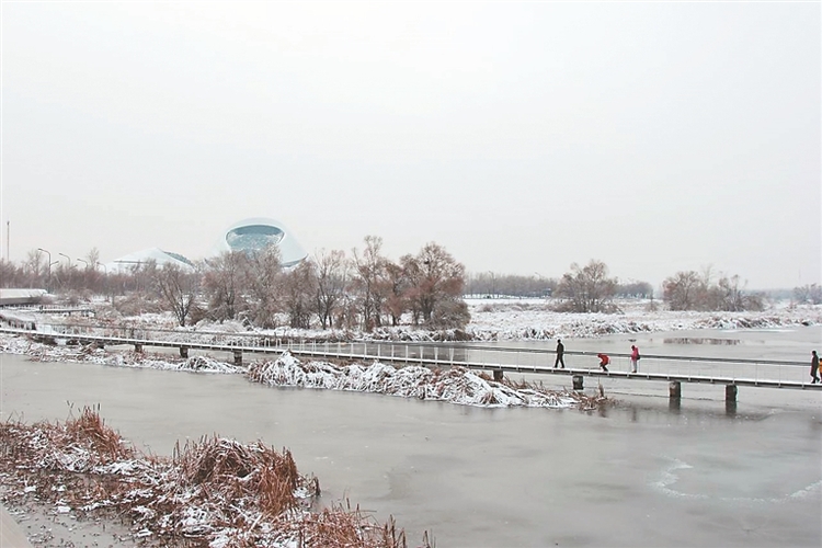
[{"label": "tall brown bare trees from left edge to centre, below domed building", "polygon": [[92,267],[96,261],[83,261],[85,269],[69,262],[50,269],[39,253],[32,253],[21,267],[2,265],[0,275],[7,287],[34,287],[39,282],[59,293],[122,295],[121,304],[137,301],[138,311],[153,301],[171,311],[180,326],[205,318],[240,320],[263,329],[287,323],[366,331],[400,321],[430,329],[468,323],[465,266],[445,248],[431,242],[398,262],[381,250],[383,239],[368,236],[363,249],[353,249],[351,255],[323,250],[287,269],[277,247],[271,246],[225,252],[191,267],[148,261],[112,274]]}]

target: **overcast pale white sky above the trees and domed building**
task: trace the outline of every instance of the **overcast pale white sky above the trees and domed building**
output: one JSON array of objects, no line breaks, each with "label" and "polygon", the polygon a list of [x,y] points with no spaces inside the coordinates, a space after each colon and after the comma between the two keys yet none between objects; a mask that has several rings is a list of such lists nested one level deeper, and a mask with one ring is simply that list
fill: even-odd
[{"label": "overcast pale white sky above the trees and domed building", "polygon": [[309,253],[436,241],[475,273],[820,282],[821,26],[819,2],[4,2],[2,256],[197,259],[265,216]]}]

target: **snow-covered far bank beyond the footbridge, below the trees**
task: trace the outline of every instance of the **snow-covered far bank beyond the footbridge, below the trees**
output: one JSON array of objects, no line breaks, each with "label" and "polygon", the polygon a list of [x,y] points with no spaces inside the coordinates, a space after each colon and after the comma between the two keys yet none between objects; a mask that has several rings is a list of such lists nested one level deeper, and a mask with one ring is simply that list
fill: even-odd
[{"label": "snow-covered far bank beyond the footbridge, below the trees", "polygon": [[[406,321],[399,327],[381,327],[372,333],[349,330],[292,329],[252,330],[240,321],[214,322],[203,320],[196,326],[180,328],[171,313],[144,313],[119,317],[101,308],[96,318],[47,317],[38,315],[38,326],[88,322],[93,324],[130,326],[145,329],[168,329],[182,332],[221,332],[248,334],[253,331],[282,339],[312,339],[332,341],[399,340],[476,340],[521,341],[562,338],[597,338],[615,333],[650,333],[698,329],[765,329],[786,326],[822,323],[822,305],[791,305],[776,302],[763,311],[696,312],[665,310],[661,301],[630,299],[616,305],[616,313],[558,312],[556,300],[546,299],[466,299],[471,321],[464,330],[429,331]],[[104,304],[102,304],[104,305]],[[101,304],[98,304],[100,307]],[[404,319],[403,319],[404,320]],[[286,324],[286,318],[282,319]],[[173,335],[167,335],[173,336]]]}]

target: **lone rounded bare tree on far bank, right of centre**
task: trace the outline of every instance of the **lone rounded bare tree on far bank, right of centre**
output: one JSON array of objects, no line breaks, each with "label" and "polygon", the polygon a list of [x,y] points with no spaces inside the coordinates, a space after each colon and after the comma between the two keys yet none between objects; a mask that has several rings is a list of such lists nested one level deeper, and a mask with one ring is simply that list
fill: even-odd
[{"label": "lone rounded bare tree on far bank, right of centre", "polygon": [[564,297],[566,307],[574,312],[606,312],[610,309],[617,279],[608,277],[608,266],[591,260],[584,267],[571,264],[571,272],[562,275],[557,294]]}]

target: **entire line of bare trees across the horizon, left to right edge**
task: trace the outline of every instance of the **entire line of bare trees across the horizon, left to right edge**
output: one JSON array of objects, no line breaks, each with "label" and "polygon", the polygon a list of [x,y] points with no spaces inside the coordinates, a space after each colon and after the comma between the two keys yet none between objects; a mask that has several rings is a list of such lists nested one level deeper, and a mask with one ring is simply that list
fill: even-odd
[{"label": "entire line of bare trees across the horizon, left to right edge", "polygon": [[[614,312],[617,298],[650,298],[648,282],[620,282],[597,260],[572,263],[561,277],[467,274],[443,247],[427,243],[416,254],[393,262],[383,255],[383,239],[368,236],[362,249],[320,251],[284,269],[276,247],[255,252],[227,252],[191,269],[147,262],[126,272],[101,272],[99,252],[50,265],[32,251],[14,265],[0,261],[0,286],[46,287],[49,292],[153,298],[181,326],[209,318],[242,320],[260,328],[284,322],[294,328],[363,329],[407,321],[431,329],[460,328],[470,316],[463,295],[487,298],[551,297],[560,311]],[[65,256],[65,255],[64,255]],[[821,304],[818,284],[796,287],[797,302]],[[671,310],[762,310],[764,295],[750,292],[739,275],[681,271],[662,283],[662,301]],[[285,317],[285,320],[283,318]],[[404,318],[404,320],[403,320]]]}]

